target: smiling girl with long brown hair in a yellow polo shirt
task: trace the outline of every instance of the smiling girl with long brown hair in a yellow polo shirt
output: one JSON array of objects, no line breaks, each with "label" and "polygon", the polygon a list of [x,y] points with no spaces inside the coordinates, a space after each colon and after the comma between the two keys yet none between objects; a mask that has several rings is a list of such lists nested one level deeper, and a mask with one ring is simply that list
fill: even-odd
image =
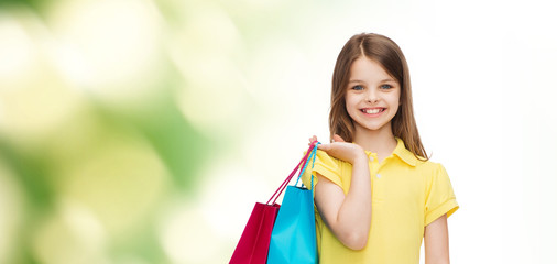
[{"label": "smiling girl with long brown hair in a yellow polo shirt", "polygon": [[426,264],[449,263],[447,218],[458,204],[419,140],[408,66],[393,41],[359,34],[342,47],[329,129],[332,143],[303,175],[306,186],[317,178],[320,263],[417,264],[422,238]]}]

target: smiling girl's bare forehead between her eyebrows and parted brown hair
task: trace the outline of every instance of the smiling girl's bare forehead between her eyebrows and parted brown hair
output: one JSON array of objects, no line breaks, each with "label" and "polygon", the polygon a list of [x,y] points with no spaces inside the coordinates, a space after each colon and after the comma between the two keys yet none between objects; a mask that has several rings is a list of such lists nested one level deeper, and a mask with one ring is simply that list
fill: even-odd
[{"label": "smiling girl's bare forehead between her eyebrows and parted brown hair", "polygon": [[358,57],[350,65],[350,79],[378,81],[394,78],[383,68],[383,65],[364,56]]}]

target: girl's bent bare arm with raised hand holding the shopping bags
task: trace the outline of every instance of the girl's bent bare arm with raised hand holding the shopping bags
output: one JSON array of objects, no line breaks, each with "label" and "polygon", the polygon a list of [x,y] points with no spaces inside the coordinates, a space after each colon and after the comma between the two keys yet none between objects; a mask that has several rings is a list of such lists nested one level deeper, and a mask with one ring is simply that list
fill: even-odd
[{"label": "girl's bent bare arm with raised hand holding the shopping bags", "polygon": [[350,189],[342,189],[317,174],[315,204],[325,223],[337,239],[351,250],[361,250],[368,243],[371,224],[371,179],[368,155],[357,144],[346,143],[340,136],[331,144],[318,147],[327,154],[352,164]]}]

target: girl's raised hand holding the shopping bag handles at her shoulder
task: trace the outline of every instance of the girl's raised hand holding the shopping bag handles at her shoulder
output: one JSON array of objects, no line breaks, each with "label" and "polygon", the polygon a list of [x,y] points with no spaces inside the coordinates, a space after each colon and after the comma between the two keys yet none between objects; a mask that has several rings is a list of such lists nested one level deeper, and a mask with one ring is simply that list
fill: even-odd
[{"label": "girl's raised hand holding the shopping bag handles at her shoulder", "polygon": [[[317,136],[309,138],[309,142],[314,142],[317,140]],[[354,164],[358,158],[368,158],[365,152],[361,146],[353,143],[345,142],[340,135],[332,135],[332,143],[330,144],[319,144],[317,146],[318,150],[327,152],[327,154],[348,162],[350,164]]]}]

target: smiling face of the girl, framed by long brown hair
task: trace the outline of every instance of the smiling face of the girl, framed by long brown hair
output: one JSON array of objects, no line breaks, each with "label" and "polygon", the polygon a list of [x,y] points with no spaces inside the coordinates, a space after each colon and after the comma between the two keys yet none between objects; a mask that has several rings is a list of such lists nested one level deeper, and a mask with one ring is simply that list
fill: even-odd
[{"label": "smiling face of the girl, framed by long brown hair", "polygon": [[391,120],[400,106],[401,86],[375,61],[364,56],[350,66],[346,91],[348,114],[356,133],[362,130],[391,130]]}]

